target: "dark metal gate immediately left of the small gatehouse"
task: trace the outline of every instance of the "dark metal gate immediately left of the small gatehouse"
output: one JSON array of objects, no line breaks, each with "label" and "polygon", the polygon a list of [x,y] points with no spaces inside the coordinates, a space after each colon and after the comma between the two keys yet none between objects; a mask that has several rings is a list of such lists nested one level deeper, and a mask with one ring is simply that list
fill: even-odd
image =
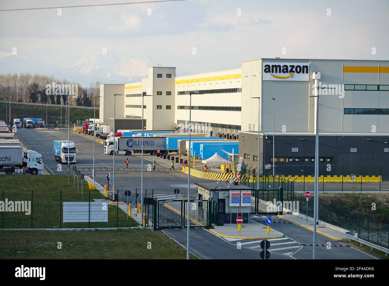
[{"label": "dark metal gate immediately left of the small gatehouse", "polygon": [[[154,229],[187,228],[187,200],[154,200]],[[190,202],[190,227],[209,228],[212,223],[212,201]]]}]

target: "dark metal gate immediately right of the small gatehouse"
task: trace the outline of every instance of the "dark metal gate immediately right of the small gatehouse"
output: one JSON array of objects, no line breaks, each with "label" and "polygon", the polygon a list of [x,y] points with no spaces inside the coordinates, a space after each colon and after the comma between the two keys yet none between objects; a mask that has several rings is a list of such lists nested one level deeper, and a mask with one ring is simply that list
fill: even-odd
[{"label": "dark metal gate immediately right of the small gatehouse", "polygon": [[279,189],[254,189],[251,192],[250,214],[282,214],[282,201],[281,187]]}]

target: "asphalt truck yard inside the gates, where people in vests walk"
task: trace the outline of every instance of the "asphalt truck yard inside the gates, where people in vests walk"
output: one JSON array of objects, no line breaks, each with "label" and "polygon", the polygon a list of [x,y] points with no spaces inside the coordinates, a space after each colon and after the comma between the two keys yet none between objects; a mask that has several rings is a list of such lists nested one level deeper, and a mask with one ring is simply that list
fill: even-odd
[{"label": "asphalt truck yard inside the gates, where people in vests walk", "polygon": [[[53,140],[67,140],[67,129],[18,129],[17,137],[21,140],[28,149],[35,150],[42,154],[45,163],[46,173],[50,175],[65,175],[67,164],[60,165],[55,161],[53,154]],[[75,142],[77,147],[77,170],[81,170],[82,174],[92,177],[93,173],[93,137],[89,135],[79,135],[70,132],[71,141]],[[107,174],[111,173],[111,186],[113,176],[113,155],[104,154],[104,146],[95,142],[95,168],[96,181],[102,186],[107,183]],[[126,168],[125,160],[130,161],[128,169]],[[152,161],[157,161],[156,171],[147,171],[147,164],[152,168]],[[62,170],[58,170],[58,165]],[[70,169],[74,165],[70,164]],[[119,189],[119,193],[124,197],[124,191],[130,189],[131,197],[129,202],[135,198],[135,188],[140,190],[141,186],[141,156],[139,155],[116,155],[115,156],[115,191]],[[154,197],[172,199],[175,198],[173,190],[180,189],[180,195],[187,195],[187,175],[180,172],[179,164],[175,164],[175,171],[170,171],[170,161],[156,158],[149,154],[144,155],[144,191],[147,189],[147,197],[151,196],[154,189]],[[70,177],[73,181],[73,178]],[[208,181],[204,179],[191,178],[191,195],[196,194],[195,182]],[[77,185],[77,179],[76,179]]]}]

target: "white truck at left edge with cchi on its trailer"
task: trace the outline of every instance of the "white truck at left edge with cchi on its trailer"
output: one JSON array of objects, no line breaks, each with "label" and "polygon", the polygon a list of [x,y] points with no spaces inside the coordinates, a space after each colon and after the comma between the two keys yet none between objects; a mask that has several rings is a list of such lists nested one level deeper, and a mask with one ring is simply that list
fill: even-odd
[{"label": "white truck at left edge with cchi on its trailer", "polygon": [[27,163],[23,166],[23,147],[21,146],[0,146],[0,168],[5,174],[43,174],[42,154],[28,150]]}]

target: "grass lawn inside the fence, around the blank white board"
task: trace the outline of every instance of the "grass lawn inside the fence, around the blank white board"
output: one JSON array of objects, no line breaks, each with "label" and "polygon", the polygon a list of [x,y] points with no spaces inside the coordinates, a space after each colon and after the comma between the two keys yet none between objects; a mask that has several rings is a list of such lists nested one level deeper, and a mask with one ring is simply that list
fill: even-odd
[{"label": "grass lawn inside the fence, around the blank white board", "polygon": [[[77,179],[73,189],[73,177],[67,184],[67,175],[0,175],[0,200],[5,201],[31,201],[32,214],[25,212],[1,212],[0,226],[2,228],[59,228],[61,220],[61,192],[62,202],[88,202],[88,183],[83,185],[83,198],[81,198],[81,182],[77,193]],[[4,190],[4,198],[2,191]],[[33,190],[33,192],[31,191]],[[33,193],[33,196],[32,196]],[[104,198],[97,190],[90,192],[90,199]],[[91,222],[90,227],[116,227],[117,207],[109,205],[108,223]],[[138,226],[132,218],[119,209],[119,227]],[[89,223],[62,223],[62,228],[87,228]]]}]

